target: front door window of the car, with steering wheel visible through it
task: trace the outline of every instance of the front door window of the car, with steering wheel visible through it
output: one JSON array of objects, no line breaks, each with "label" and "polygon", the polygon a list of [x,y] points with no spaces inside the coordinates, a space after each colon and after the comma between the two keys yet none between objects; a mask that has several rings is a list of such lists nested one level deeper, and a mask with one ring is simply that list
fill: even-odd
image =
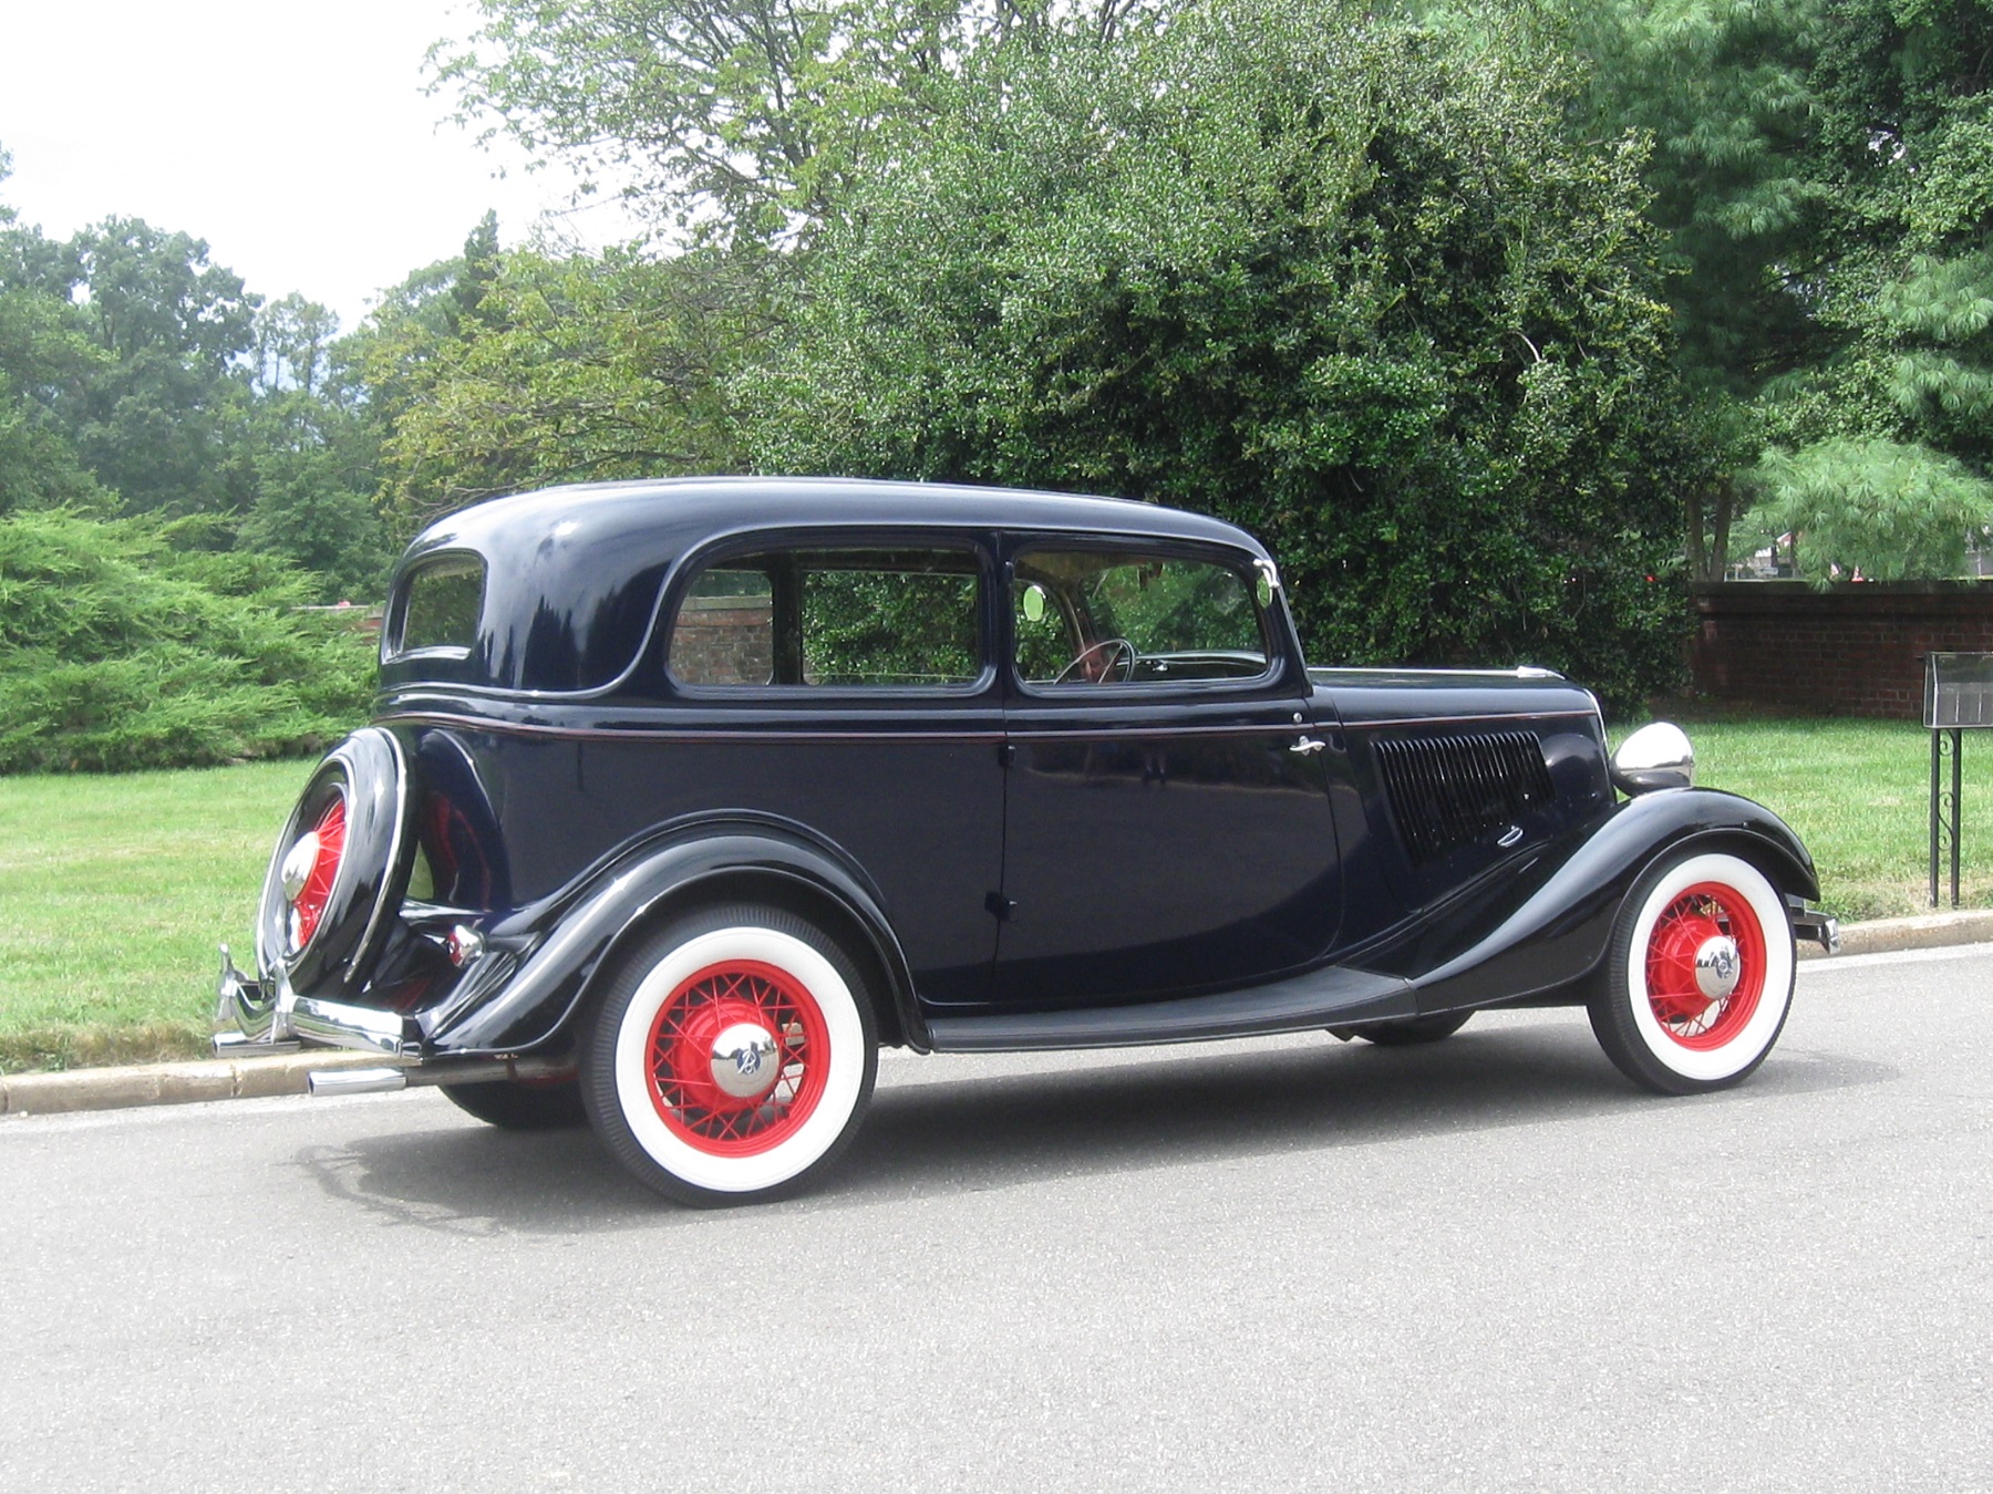
[{"label": "front door window of the car, with steering wheel visible through it", "polygon": [[1266,625],[1244,572],[1126,550],[1028,550],[1012,582],[1030,685],[1258,679]]}]

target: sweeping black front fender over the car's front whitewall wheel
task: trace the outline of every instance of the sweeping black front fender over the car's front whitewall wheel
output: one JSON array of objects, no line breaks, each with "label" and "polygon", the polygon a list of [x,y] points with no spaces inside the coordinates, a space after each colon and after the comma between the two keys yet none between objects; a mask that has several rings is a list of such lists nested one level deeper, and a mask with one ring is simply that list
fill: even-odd
[{"label": "sweeping black front fender over the car's front whitewall wheel", "polygon": [[1812,857],[1770,809],[1714,789],[1668,789],[1616,805],[1523,865],[1481,878],[1359,962],[1407,976],[1421,1012],[1555,990],[1604,958],[1612,918],[1642,871],[1662,855],[1718,845],[1762,867],[1788,896],[1820,896]]}]

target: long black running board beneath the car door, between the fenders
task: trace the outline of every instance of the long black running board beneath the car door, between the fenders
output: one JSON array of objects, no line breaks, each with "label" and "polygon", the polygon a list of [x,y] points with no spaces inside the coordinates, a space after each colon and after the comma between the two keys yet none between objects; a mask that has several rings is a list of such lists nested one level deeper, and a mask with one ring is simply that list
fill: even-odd
[{"label": "long black running board beneath the car door, between the fenders", "polygon": [[1064,1012],[935,1016],[937,1054],[1024,1054],[1054,1048],[1144,1048],[1162,1042],[1262,1038],[1417,1016],[1413,986],[1397,976],[1331,966],[1268,986],[1180,996],[1174,1002],[1088,1006]]}]

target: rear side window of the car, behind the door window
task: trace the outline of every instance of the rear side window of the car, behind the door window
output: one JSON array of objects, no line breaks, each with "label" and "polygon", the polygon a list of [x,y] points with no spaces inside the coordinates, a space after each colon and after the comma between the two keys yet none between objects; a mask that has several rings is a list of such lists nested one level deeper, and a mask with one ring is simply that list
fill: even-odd
[{"label": "rear side window of the car, behind the door window", "polygon": [[672,623],[684,685],[937,687],[983,675],[971,550],[789,550],[704,572]]}]

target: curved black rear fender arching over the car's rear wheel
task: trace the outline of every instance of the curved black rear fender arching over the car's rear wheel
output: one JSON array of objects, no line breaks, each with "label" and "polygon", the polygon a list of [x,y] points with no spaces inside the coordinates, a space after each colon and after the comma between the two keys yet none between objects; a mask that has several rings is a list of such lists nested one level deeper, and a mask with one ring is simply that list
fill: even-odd
[{"label": "curved black rear fender arching over the car's rear wheel", "polygon": [[524,908],[492,930],[490,976],[470,970],[450,1000],[423,1014],[423,1036],[436,1054],[524,1052],[564,1040],[596,972],[612,960],[624,932],[666,904],[696,898],[702,884],[715,894],[737,892],[743,878],[763,886],[787,882],[815,902],[839,906],[863,930],[885,970],[887,992],[911,1046],[927,1048],[913,1004],[913,978],[899,940],[865,882],[825,847],[801,835],[753,825],[680,835],[666,845],[630,853],[568,892],[552,932],[520,952],[508,952],[508,926],[548,928],[546,908]]}]

